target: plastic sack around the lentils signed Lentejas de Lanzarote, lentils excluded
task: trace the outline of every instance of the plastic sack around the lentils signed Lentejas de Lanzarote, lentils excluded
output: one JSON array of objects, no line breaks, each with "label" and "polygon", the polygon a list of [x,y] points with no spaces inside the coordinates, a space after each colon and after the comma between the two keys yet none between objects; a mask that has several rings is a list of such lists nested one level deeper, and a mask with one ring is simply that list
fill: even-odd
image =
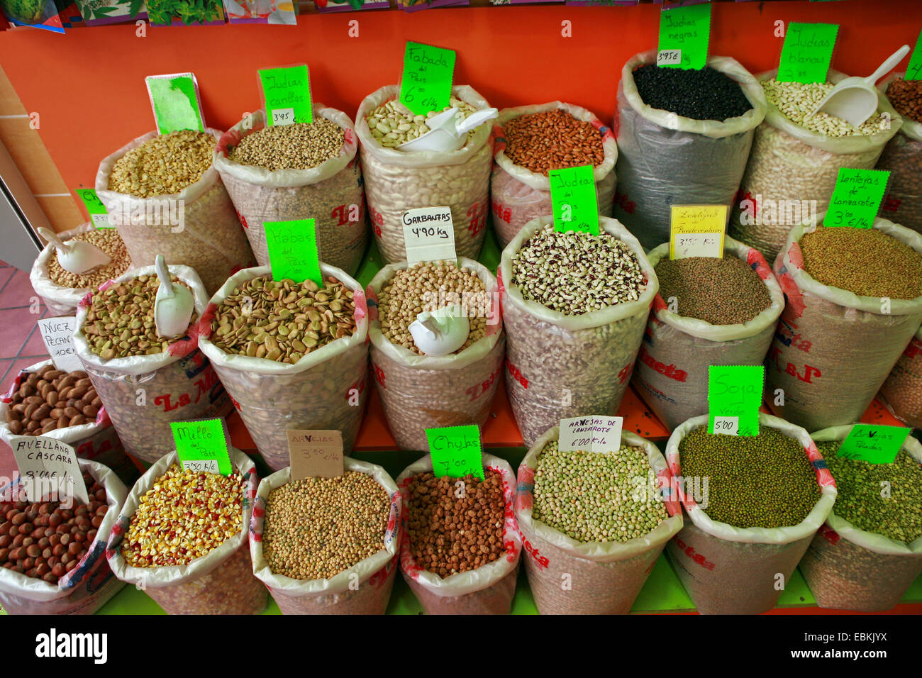
[{"label": "plastic sack around the lentils signed Lentejas de Lanzarote, lentils excluded", "polygon": [[[819,217],[825,216],[823,212]],[[765,370],[772,410],[810,430],[857,422],[922,324],[922,297],[859,297],[814,280],[804,268],[796,226],[774,262],[785,292]],[[888,220],[885,232],[922,253],[922,235]],[[776,389],[783,390],[782,398]]]}]

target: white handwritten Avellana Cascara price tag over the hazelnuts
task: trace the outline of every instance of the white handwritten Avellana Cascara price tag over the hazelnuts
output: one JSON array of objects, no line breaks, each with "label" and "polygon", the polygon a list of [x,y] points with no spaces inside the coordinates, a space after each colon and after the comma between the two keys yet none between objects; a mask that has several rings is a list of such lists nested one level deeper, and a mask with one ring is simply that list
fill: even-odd
[{"label": "white handwritten Avellana Cascara price tag over the hazelnuts", "polygon": [[73,447],[44,435],[11,435],[9,446],[30,502],[48,499],[67,504],[76,497],[89,504],[87,483]]}]

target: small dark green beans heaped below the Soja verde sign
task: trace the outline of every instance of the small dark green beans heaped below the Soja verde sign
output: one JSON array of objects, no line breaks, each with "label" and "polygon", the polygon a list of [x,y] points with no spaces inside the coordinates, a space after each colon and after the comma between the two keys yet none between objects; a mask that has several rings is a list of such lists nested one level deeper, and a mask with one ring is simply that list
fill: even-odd
[{"label": "small dark green beans heaped below the Soja verde sign", "polygon": [[798,525],[820,500],[810,458],[794,438],[759,429],[752,436],[695,429],[679,444],[682,476],[701,479],[703,511],[712,520],[736,528]]}]

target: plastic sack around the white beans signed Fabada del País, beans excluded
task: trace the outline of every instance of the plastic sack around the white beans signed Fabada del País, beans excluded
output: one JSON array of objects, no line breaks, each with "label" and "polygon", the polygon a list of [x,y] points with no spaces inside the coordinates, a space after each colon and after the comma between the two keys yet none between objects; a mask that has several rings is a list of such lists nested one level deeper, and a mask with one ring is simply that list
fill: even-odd
[{"label": "plastic sack around the white beans signed Fabada del Pa\u00eds, beans excluded", "polygon": [[[372,232],[384,263],[407,258],[401,215],[408,209],[432,206],[452,208],[457,255],[476,259],[487,234],[490,211],[491,125],[480,125],[458,150],[384,148],[372,137],[365,116],[399,93],[399,87],[388,85],[368,95],[355,120]],[[476,109],[490,106],[467,85],[455,85],[452,94]]]}]

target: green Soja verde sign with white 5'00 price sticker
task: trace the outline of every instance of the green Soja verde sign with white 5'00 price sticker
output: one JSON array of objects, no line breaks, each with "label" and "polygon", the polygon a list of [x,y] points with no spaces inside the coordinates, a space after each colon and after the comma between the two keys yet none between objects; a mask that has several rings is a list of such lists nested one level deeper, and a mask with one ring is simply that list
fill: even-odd
[{"label": "green Soja verde sign with white 5'00 price sticker", "polygon": [[[762,365],[711,365],[708,367],[708,432],[736,431],[737,435],[759,434],[759,408],[762,405]],[[722,420],[715,427],[715,419]],[[727,420],[736,420],[733,422]]]}]

